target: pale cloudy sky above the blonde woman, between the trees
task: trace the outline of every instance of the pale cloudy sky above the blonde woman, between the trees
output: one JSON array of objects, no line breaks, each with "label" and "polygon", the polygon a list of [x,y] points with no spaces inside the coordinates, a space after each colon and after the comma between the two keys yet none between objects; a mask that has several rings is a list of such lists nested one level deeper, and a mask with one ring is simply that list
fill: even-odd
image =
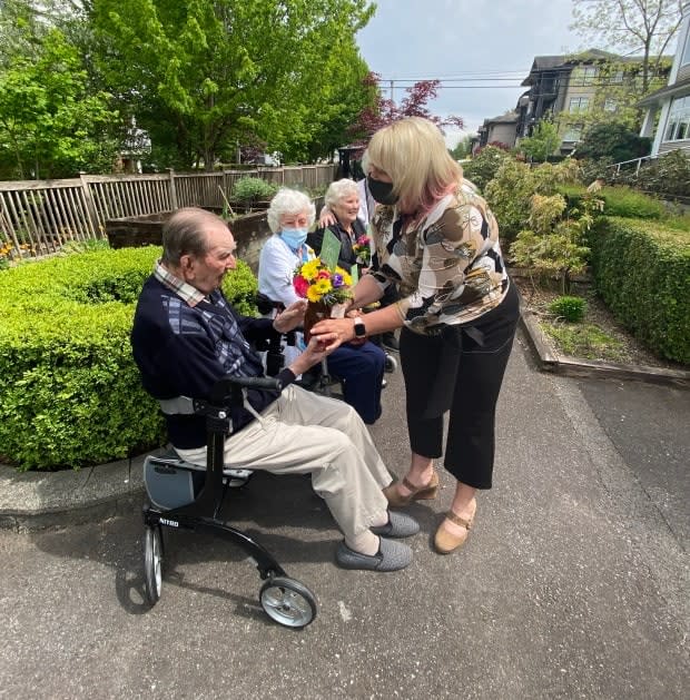
[{"label": "pale cloudy sky above the blonde woman, between the trees", "polygon": [[[515,107],[535,56],[585,48],[568,28],[571,0],[376,0],[376,14],[357,33],[362,57],[383,79],[385,97],[394,81],[395,101],[415,80],[446,80],[428,108],[463,118],[464,132],[446,129],[450,148],[484,119]],[[465,80],[451,82],[453,78]]]}]

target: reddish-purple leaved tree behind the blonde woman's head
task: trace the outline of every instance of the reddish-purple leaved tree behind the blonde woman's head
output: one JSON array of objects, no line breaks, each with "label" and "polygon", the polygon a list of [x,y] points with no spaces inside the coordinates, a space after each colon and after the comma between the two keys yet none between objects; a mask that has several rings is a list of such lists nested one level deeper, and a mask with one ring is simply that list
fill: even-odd
[{"label": "reddish-purple leaved tree behind the blonde woman's head", "polygon": [[442,119],[428,110],[427,102],[437,96],[441,80],[420,80],[412,87],[405,88],[406,95],[400,105],[382,96],[378,88],[379,80],[381,77],[375,72],[371,72],[365,78],[364,85],[371,91],[372,101],[362,110],[351,129],[355,142],[362,145],[363,148],[375,131],[404,117],[423,117],[433,121],[442,130],[444,126],[451,125],[460,129],[464,127],[462,117],[451,115]]}]

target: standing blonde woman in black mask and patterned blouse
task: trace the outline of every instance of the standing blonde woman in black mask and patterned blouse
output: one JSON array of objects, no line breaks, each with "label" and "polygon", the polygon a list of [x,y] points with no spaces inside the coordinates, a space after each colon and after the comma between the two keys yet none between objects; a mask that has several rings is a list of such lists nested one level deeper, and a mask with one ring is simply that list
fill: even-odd
[{"label": "standing blonde woman in black mask and patterned blouse", "polygon": [[[434,538],[438,553],[461,546],[472,526],[477,490],[491,489],[495,406],[519,318],[499,227],[486,203],[465,185],[443,135],[426,119],[401,119],[372,138],[364,161],[378,203],[372,226],[379,267],[363,276],[354,307],[397,284],[397,303],[364,317],[366,334],[402,328],[412,457],[404,479],[384,490],[393,506],[433,499],[434,460],[456,480],[451,510]],[[361,332],[361,329],[359,329]],[[351,318],[314,333],[331,346],[354,337]]]}]

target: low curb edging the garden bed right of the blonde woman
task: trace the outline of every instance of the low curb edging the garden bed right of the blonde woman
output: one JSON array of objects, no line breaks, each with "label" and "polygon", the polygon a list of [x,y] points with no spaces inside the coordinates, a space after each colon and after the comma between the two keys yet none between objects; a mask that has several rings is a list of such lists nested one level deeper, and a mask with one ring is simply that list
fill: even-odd
[{"label": "low curb edging the garden bed right of the blonde woman", "polygon": [[528,336],[540,369],[544,372],[553,372],[571,377],[632,379],[674,386],[676,388],[690,388],[690,371],[623,365],[559,355],[539,327],[535,315],[524,307],[520,316],[520,325]]}]

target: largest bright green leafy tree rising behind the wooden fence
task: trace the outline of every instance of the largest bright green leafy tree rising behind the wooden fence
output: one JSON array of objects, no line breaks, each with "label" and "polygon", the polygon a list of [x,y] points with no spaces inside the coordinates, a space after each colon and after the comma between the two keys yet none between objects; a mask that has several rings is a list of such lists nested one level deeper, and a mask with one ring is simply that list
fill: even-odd
[{"label": "largest bright green leafy tree rising behind the wooden fence", "polygon": [[342,89],[358,106],[354,37],[373,9],[366,0],[92,0],[90,16],[99,68],[150,135],[157,165],[211,169],[247,141],[298,159],[326,134],[333,140],[332,96]]}]

